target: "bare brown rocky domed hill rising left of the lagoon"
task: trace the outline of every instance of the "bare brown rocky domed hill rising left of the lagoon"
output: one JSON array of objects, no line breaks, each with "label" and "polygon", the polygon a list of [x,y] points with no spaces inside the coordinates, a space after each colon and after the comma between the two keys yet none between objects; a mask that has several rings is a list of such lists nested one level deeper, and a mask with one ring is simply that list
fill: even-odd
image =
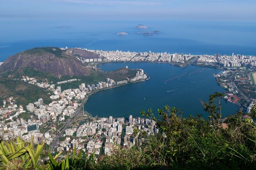
[{"label": "bare brown rocky domed hill rising left of the lagoon", "polygon": [[89,75],[92,72],[91,68],[84,66],[75,57],[77,53],[87,57],[98,57],[98,55],[89,51],[76,49],[61,50],[56,47],[34,48],[7,58],[0,66],[0,72],[32,67],[54,75]]}]

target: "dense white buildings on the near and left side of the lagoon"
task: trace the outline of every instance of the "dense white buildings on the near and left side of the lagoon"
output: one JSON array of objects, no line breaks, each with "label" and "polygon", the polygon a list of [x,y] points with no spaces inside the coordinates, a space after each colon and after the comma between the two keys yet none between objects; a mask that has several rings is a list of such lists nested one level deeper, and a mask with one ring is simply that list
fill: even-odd
[{"label": "dense white buildings on the near and left side of the lagoon", "polygon": [[[13,97],[4,99],[0,108],[0,119],[2,120],[0,136],[3,140],[20,136],[25,141],[30,141],[31,136],[33,136],[35,144],[46,140],[47,144],[56,145],[56,148],[53,149],[58,151],[68,151],[69,148],[73,149],[76,144],[79,149],[83,149],[88,153],[95,151],[96,155],[99,155],[102,151],[106,154],[111,154],[113,151],[112,144],[121,145],[121,141],[122,146],[129,148],[135,144],[135,140],[132,140],[135,137],[133,129],[137,128],[152,134],[156,131],[154,121],[150,119],[135,119],[132,118],[132,115],[128,121],[124,117],[117,119],[113,117],[97,118],[92,117],[86,111],[81,111],[81,108],[88,97],[98,90],[136,81],[145,81],[148,78],[143,70],[140,69],[132,79],[116,82],[107,78],[105,82],[92,85],[82,83],[78,89],[62,91],[60,86],[55,89],[55,84],[40,82],[33,77],[23,76],[22,81],[52,91],[50,98],[53,101],[50,104],[44,104],[43,99],[39,98],[34,103],[24,106],[24,108],[22,105],[17,106]],[[79,80],[69,79],[56,84],[72,81]],[[72,123],[70,119],[78,116],[82,116],[82,120],[85,119],[85,121],[79,122],[80,124],[82,123],[79,127],[63,128],[65,123]],[[60,130],[64,134],[59,133]],[[64,140],[62,141],[63,138]],[[103,139],[105,141],[104,144]],[[85,143],[87,143],[87,147],[85,147]],[[102,146],[105,146],[104,149],[102,149]]]}]

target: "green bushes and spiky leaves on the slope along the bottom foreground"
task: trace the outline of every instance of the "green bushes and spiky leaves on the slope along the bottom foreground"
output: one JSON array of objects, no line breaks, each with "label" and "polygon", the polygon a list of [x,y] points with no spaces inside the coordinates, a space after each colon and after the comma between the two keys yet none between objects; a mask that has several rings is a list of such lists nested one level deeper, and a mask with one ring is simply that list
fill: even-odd
[{"label": "green bushes and spiky leaves on the slope along the bottom foreground", "polygon": [[[44,144],[33,151],[32,143],[17,139],[17,142],[0,144],[0,164],[2,169],[256,169],[256,125],[252,119],[244,117],[240,111],[236,115],[221,119],[220,100],[223,94],[210,95],[208,102],[202,102],[209,113],[208,120],[201,115],[183,118],[176,108],[165,106],[158,109],[157,120],[152,110],[141,115],[156,120],[159,132],[147,136],[134,129],[135,146],[117,149],[111,156],[102,156],[95,163],[93,156],[86,153],[68,153],[65,159],[56,161],[48,153],[46,162],[39,162]],[[256,108],[250,113],[254,119]],[[138,141],[142,141],[139,146]],[[7,149],[8,148],[8,149]],[[34,152],[34,153],[33,153]],[[16,166],[17,167],[17,166]]]}]

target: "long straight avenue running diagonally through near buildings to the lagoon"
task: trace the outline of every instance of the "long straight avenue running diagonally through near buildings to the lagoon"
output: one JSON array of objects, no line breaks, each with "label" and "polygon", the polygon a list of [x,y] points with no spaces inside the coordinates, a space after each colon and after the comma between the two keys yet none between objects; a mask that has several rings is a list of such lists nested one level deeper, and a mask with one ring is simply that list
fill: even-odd
[{"label": "long straight avenue running diagonally through near buildings to the lagoon", "polygon": [[[93,94],[93,93],[91,93]],[[58,147],[59,145],[59,138],[62,136],[63,132],[67,129],[67,127],[74,122],[81,113],[83,113],[81,111],[81,108],[84,106],[85,102],[87,102],[88,98],[90,97],[90,95],[87,95],[86,98],[82,101],[82,103],[80,104],[80,106],[76,109],[76,111],[74,112],[74,114],[72,115],[72,117],[69,117],[69,119],[65,122],[65,125],[63,127],[61,127],[59,129],[59,132],[56,132],[55,137],[53,138],[52,142],[50,143],[50,151],[53,151],[55,147]],[[90,115],[89,113],[85,112],[87,115]]]}]

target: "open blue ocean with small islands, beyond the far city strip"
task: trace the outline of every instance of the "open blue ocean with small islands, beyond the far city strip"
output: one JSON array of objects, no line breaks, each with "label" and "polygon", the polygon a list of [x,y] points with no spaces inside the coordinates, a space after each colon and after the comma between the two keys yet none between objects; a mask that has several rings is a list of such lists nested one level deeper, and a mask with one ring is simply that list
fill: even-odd
[{"label": "open blue ocean with small islands, beyond the far city strip", "polygon": [[[191,54],[256,54],[256,23],[185,21],[33,20],[0,17],[0,62],[34,47],[153,51]],[[142,23],[156,36],[136,34]],[[59,28],[67,26],[67,28]],[[127,32],[127,36],[117,36]]]}]

